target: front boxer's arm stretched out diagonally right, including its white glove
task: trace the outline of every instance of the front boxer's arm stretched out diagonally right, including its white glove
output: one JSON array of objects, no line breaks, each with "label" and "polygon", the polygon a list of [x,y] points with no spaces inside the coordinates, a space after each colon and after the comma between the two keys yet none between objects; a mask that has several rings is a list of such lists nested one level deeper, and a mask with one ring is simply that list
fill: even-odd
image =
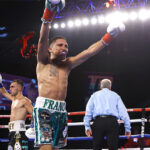
[{"label": "front boxer's arm stretched out diagonally right, including its white glove", "polygon": [[101,40],[92,44],[88,49],[78,55],[69,58],[70,68],[75,68],[88,60],[90,57],[99,53],[105,46],[109,45],[109,43],[119,34],[119,32],[123,32],[124,30],[125,26],[122,23],[110,24],[107,28],[107,33],[101,38]]}]

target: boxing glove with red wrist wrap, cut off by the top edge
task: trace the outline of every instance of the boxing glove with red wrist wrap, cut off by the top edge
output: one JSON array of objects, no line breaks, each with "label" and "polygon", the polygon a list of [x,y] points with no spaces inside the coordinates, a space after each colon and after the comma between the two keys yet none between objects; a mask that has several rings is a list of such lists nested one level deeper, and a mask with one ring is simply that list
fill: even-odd
[{"label": "boxing glove with red wrist wrap, cut off by the top edge", "polygon": [[46,0],[45,10],[43,13],[42,21],[44,23],[50,23],[55,16],[56,12],[59,12],[65,7],[65,0]]}]

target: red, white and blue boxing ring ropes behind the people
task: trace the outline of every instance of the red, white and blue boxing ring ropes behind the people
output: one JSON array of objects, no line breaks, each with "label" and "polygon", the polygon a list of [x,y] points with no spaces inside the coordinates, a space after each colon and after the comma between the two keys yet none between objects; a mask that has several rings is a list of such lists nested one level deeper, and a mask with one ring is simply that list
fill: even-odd
[{"label": "red, white and blue boxing ring ropes behind the people", "polygon": [[[135,135],[131,135],[130,139],[140,139],[141,140],[141,143],[140,143],[140,147],[139,148],[120,148],[121,149],[124,149],[124,150],[143,150],[143,149],[147,149],[147,150],[150,150],[150,147],[146,147],[144,148],[144,139],[145,138],[149,138],[150,139],[150,134],[145,134],[145,123],[146,122],[149,122],[149,119],[146,119],[146,116],[145,116],[145,113],[146,112],[149,112],[150,111],[150,108],[132,108],[132,109],[127,109],[128,112],[140,112],[141,114],[141,118],[140,119],[131,119],[130,122],[131,122],[131,125],[133,123],[140,123],[140,128],[141,128],[141,133],[140,134],[135,134]],[[83,116],[85,115],[85,112],[84,111],[81,111],[81,112],[69,112],[68,113],[68,117],[71,117],[71,116],[80,116],[83,118]],[[0,118],[9,118],[10,115],[0,115]],[[27,118],[31,118],[31,115],[27,115]],[[82,119],[83,120],[83,119]],[[91,125],[92,125],[93,122],[91,122]],[[122,120],[118,120],[118,123],[119,124],[122,124],[123,121]],[[77,127],[77,126],[84,126],[84,123],[83,122],[68,122],[68,127]],[[26,124],[26,128],[28,129],[30,127],[30,124]],[[8,129],[8,125],[0,125],[0,129]],[[83,129],[83,133],[84,133],[84,129]],[[106,137],[105,137],[106,139]],[[127,136],[125,135],[120,135],[119,136],[119,139],[128,139]],[[93,137],[86,137],[86,136],[79,136],[79,137],[68,137],[67,138],[67,141],[92,141],[93,140]],[[29,139],[29,141],[33,142],[34,141],[34,138],[31,138]],[[6,143],[8,142],[8,139],[7,138],[0,138],[0,143]]]}]

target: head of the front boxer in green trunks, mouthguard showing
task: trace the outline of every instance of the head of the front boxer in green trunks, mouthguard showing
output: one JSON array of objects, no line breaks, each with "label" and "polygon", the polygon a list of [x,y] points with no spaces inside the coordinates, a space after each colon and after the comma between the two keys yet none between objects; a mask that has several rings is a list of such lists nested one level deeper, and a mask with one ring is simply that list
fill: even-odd
[{"label": "head of the front boxer in green trunks, mouthguard showing", "polygon": [[57,39],[55,43],[49,48],[53,58],[58,60],[65,60],[68,53],[68,44],[65,39]]}]

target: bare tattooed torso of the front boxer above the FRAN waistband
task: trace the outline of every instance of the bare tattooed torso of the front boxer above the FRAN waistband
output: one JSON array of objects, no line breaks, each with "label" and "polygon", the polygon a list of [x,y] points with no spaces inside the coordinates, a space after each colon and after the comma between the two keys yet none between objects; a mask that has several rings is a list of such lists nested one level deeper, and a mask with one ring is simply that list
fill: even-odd
[{"label": "bare tattooed torso of the front boxer above the FRAN waistband", "polygon": [[69,69],[66,64],[37,64],[39,96],[54,100],[65,100]]}]

